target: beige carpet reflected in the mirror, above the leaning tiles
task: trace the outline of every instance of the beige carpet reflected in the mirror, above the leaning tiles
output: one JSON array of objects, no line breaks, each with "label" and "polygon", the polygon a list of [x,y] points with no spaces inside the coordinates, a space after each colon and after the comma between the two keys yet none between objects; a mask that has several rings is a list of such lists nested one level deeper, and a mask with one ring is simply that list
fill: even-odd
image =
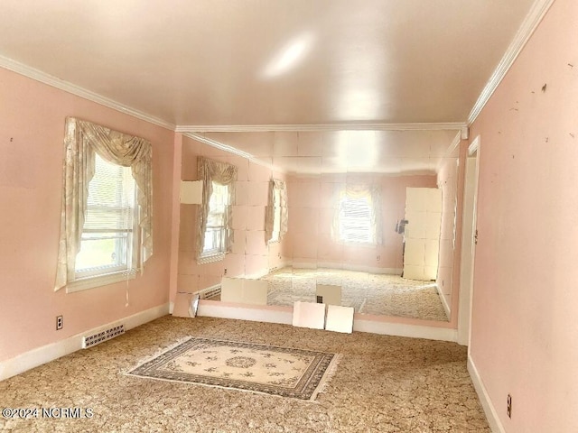
[{"label": "beige carpet reflected in the mirror, above the leaning tiles", "polygon": [[263,279],[269,282],[267,304],[293,306],[296,300],[315,302],[315,285],[341,286],[341,305],[356,313],[442,320],[448,318],[434,281],[414,281],[397,275],[339,269],[283,268]]}]

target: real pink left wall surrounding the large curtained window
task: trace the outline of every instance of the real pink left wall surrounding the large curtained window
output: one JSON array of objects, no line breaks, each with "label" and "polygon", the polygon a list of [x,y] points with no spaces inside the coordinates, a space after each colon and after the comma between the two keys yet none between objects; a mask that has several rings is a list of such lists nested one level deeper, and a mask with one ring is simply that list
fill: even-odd
[{"label": "real pink left wall surrounding the large curtained window", "polygon": [[[168,301],[172,131],[0,69],[0,361]],[[153,143],[154,256],[126,283],[53,291],[61,224],[64,119]],[[55,318],[64,328],[55,330]]]}]

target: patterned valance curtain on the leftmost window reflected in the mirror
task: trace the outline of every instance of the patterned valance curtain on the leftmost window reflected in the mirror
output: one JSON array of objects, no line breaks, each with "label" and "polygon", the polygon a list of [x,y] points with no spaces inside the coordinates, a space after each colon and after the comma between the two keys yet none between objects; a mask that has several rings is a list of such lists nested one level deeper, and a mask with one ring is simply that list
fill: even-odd
[{"label": "patterned valance curtain on the leftmost window reflected in the mirror", "polygon": [[235,182],[237,181],[237,167],[228,162],[214,161],[208,158],[199,157],[197,162],[200,180],[203,181],[202,203],[198,213],[197,232],[197,262],[201,260],[205,248],[205,233],[207,231],[207,220],[209,217],[210,195],[213,192],[212,182],[228,186],[228,206],[227,206],[227,234],[225,240],[225,252],[230,253],[233,244],[233,230],[231,228],[233,216],[233,205],[235,204]]}]

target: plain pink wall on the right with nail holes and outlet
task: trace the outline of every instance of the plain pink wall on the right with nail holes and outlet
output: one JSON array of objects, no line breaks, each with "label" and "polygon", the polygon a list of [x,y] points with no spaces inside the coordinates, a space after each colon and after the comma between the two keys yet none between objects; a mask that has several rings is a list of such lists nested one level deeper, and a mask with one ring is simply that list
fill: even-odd
[{"label": "plain pink wall on the right with nail holes and outlet", "polygon": [[556,0],[471,127],[471,358],[508,432],[578,431],[576,35],[578,2]]}]

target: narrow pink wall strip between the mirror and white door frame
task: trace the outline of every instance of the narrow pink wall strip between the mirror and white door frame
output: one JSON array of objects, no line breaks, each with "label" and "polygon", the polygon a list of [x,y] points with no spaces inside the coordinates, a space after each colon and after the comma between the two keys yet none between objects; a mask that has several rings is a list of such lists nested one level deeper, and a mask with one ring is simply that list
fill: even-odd
[{"label": "narrow pink wall strip between the mirror and white door frame", "polygon": [[[458,343],[470,345],[471,338],[471,303],[476,255],[476,229],[478,217],[478,180],[480,177],[480,135],[473,139],[468,147],[465,164],[463,189],[463,216],[461,234],[461,269],[460,269],[460,307],[458,309]],[[475,160],[475,165],[469,163]],[[473,169],[473,171],[472,171]],[[471,227],[471,230],[465,229]],[[465,263],[469,263],[469,265]]]}]

